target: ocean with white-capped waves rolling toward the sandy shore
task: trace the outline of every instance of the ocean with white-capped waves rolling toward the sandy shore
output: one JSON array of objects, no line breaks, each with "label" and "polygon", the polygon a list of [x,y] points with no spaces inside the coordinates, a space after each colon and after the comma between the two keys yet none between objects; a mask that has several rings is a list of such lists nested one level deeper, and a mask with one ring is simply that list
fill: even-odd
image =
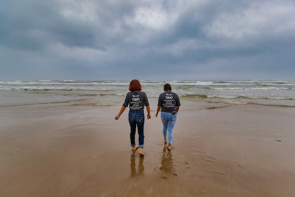
[{"label": "ocean with white-capped waves rolling toward the sandy shore", "polygon": [[[28,80],[0,81],[0,107],[19,105],[121,105],[129,80]],[[141,80],[154,105],[163,85],[170,83],[181,100],[216,104],[259,104],[295,107],[295,81],[194,81]],[[207,103],[204,105],[204,103]]]}]

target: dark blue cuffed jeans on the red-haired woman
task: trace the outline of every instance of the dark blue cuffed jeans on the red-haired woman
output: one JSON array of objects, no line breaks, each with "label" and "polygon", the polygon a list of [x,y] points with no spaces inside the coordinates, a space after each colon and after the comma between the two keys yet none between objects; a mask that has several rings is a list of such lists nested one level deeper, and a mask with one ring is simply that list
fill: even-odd
[{"label": "dark blue cuffed jeans on the red-haired woman", "polygon": [[136,126],[138,130],[138,141],[139,141],[139,148],[144,147],[144,124],[145,124],[145,114],[142,110],[129,110],[129,124],[130,124],[130,142],[131,146],[135,146],[135,133],[136,133]]}]

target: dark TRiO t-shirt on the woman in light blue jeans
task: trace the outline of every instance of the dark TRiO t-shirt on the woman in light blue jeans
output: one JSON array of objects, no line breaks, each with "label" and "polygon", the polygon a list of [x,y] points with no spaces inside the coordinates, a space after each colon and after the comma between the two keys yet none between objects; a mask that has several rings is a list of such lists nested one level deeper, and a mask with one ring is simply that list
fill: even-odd
[{"label": "dark TRiO t-shirt on the woman in light blue jeans", "polygon": [[158,106],[161,106],[163,112],[176,111],[176,107],[180,106],[178,95],[170,91],[163,92],[159,96]]}]

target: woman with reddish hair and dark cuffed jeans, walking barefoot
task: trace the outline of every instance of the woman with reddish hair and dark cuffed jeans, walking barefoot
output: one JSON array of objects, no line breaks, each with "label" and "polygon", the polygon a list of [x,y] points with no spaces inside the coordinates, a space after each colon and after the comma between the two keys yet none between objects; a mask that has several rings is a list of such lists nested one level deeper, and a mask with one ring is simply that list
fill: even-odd
[{"label": "woman with reddish hair and dark cuffed jeans, walking barefoot", "polygon": [[[145,124],[145,114],[144,107],[147,107],[148,119],[150,119],[150,108],[148,104],[148,97],[145,92],[142,92],[142,87],[140,82],[137,79],[133,79],[129,84],[129,93],[127,93],[125,101],[119,111],[118,115],[115,117],[115,120],[118,120],[121,114],[124,112],[126,107],[129,104],[129,124],[130,124],[130,142],[132,150],[135,151],[139,148],[139,155],[144,156],[144,124]],[[138,146],[135,143],[135,132],[136,126],[139,135],[139,144]]]}]

